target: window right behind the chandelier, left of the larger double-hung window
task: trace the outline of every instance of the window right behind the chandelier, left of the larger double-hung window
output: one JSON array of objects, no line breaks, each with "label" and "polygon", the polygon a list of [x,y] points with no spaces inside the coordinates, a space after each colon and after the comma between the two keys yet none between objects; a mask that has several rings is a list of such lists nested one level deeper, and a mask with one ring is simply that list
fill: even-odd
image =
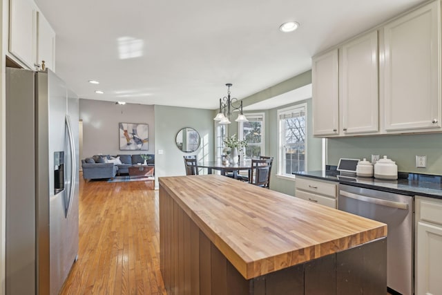
[{"label": "window right behind the chandelier, left of the larger double-hung window", "polygon": [[241,122],[239,124],[240,140],[247,141],[244,159],[259,158],[260,155],[265,155],[264,113],[244,115],[249,120],[249,122]]}]

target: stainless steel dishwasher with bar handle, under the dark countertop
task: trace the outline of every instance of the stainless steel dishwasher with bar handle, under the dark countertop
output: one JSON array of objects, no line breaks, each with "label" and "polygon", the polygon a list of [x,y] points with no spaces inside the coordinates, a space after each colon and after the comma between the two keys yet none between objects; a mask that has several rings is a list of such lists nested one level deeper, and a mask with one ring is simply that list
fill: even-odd
[{"label": "stainless steel dishwasher with bar handle, under the dark countertop", "polygon": [[339,184],[338,209],[387,224],[387,286],[414,293],[414,197]]}]

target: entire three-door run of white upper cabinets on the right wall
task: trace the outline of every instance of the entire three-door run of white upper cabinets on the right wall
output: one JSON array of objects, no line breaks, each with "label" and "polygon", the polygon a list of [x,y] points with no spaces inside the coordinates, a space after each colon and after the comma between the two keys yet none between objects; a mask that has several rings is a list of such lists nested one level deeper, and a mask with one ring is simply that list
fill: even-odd
[{"label": "entire three-door run of white upper cabinets on the right wall", "polygon": [[442,131],[441,1],[312,58],[316,137]]}]

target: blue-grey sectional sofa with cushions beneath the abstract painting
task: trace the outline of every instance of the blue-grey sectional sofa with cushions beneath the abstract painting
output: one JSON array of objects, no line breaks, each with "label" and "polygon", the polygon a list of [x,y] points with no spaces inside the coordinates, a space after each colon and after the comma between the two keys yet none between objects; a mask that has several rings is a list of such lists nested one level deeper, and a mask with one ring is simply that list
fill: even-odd
[{"label": "blue-grey sectional sofa with cushions beneath the abstract painting", "polygon": [[[150,155],[146,160],[149,166],[155,166],[155,155]],[[91,158],[81,160],[83,178],[85,180],[115,178],[115,175],[127,174],[128,167],[144,163],[140,154],[135,155],[94,155]]]}]

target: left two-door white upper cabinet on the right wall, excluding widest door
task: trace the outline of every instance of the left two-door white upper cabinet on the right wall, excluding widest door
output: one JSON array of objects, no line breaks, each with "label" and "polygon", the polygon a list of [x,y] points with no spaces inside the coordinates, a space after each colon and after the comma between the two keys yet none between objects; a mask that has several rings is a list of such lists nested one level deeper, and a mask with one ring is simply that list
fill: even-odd
[{"label": "left two-door white upper cabinet on the right wall, excluding widest door", "polygon": [[313,133],[372,134],[378,128],[378,33],[312,59]]}]

